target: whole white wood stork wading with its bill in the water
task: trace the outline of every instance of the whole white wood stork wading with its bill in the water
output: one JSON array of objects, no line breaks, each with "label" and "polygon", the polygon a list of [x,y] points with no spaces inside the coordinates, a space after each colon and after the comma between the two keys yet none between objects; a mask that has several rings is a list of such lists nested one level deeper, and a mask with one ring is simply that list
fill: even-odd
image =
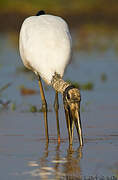
[{"label": "whole white wood stork wading with its bill in the water", "polygon": [[[63,95],[69,144],[73,141],[73,127],[76,126],[80,145],[83,145],[80,120],[80,91],[65,82],[62,77],[71,59],[71,35],[67,23],[58,16],[39,11],[24,20],[19,37],[20,55],[24,65],[37,76],[44,110],[46,137],[48,136],[47,103],[41,78],[55,91],[54,107],[58,116],[58,92]],[[57,134],[60,142],[59,120]]]}]

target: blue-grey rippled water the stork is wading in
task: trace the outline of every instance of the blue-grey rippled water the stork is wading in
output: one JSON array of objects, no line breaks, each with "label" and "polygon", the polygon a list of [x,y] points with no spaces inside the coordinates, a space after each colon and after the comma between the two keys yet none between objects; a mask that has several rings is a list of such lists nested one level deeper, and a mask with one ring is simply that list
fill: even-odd
[{"label": "blue-grey rippled water the stork is wading in", "polygon": [[[75,132],[73,149],[69,149],[61,95],[58,145],[51,88],[45,89],[50,109],[50,143],[46,143],[43,113],[29,112],[31,105],[41,107],[38,83],[22,67],[15,35],[0,34],[0,86],[11,83],[0,94],[2,101],[11,101],[8,106],[0,105],[0,179],[118,178],[118,56],[113,46],[102,52],[75,49],[64,76],[79,83],[93,83],[93,90],[81,90],[83,148]],[[22,96],[23,85],[34,88],[37,94]]]}]

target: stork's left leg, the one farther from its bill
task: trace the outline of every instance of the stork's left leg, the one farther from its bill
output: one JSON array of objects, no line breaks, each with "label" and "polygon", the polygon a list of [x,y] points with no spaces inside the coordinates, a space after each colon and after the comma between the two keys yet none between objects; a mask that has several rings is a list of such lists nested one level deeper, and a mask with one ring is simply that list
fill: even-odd
[{"label": "stork's left leg, the one farther from its bill", "polygon": [[43,85],[41,82],[41,77],[38,75],[38,82],[39,82],[39,88],[40,88],[40,94],[41,94],[41,100],[42,100],[42,110],[44,113],[44,121],[45,121],[45,134],[46,134],[46,139],[49,141],[49,136],[48,136],[48,120],[47,120],[47,102],[45,99],[45,94],[43,90]]}]

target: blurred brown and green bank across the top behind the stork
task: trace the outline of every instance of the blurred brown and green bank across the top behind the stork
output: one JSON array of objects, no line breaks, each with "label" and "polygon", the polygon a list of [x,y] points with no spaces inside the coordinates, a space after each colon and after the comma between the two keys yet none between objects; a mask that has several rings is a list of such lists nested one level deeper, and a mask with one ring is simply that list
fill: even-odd
[{"label": "blurred brown and green bank across the top behind the stork", "polygon": [[76,31],[77,48],[104,51],[112,44],[117,51],[118,3],[115,0],[1,0],[0,32],[8,33],[15,43],[23,20],[40,9],[66,19],[72,31]]}]

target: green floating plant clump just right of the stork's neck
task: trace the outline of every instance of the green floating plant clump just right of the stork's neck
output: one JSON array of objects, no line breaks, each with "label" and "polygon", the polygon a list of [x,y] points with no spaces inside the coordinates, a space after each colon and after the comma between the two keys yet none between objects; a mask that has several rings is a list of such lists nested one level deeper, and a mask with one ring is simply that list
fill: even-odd
[{"label": "green floating plant clump just right of the stork's neck", "polygon": [[87,82],[87,83],[84,83],[84,84],[80,84],[80,83],[78,83],[76,81],[70,81],[70,80],[67,80],[67,82],[71,83],[76,88],[80,88],[81,90],[86,90],[86,91],[93,90],[93,87],[94,87],[94,84],[92,82]]}]

